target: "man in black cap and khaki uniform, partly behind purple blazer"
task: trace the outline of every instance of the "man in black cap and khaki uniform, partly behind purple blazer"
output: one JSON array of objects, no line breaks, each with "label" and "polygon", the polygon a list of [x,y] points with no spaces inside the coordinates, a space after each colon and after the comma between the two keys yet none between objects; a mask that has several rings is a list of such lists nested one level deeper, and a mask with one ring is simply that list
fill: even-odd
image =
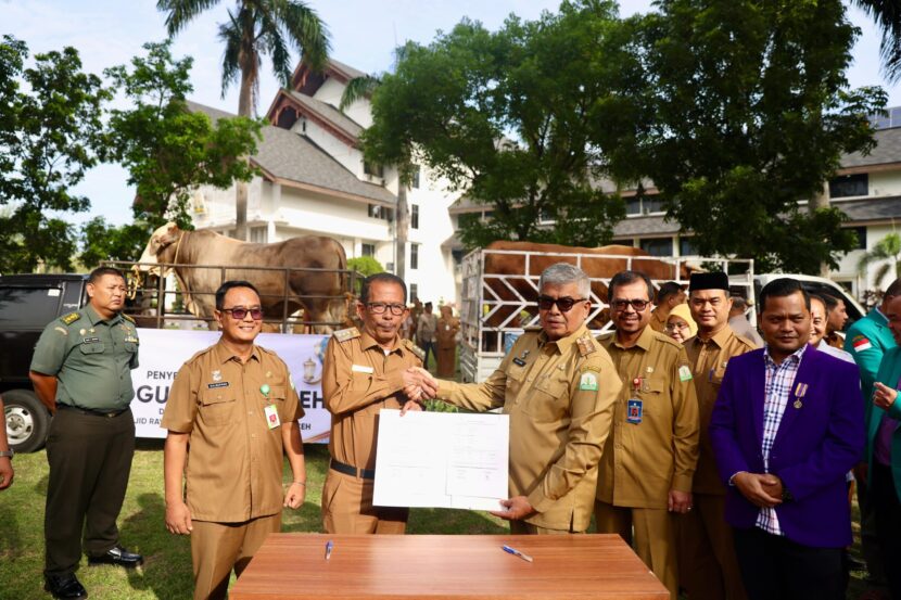
[{"label": "man in black cap and khaki uniform, partly behind purple blazer", "polygon": [[756,349],[728,325],[733,301],[728,276],[695,273],[688,307],[698,334],[685,342],[700,413],[700,456],[691,487],[694,510],[677,518],[678,575],[693,600],[744,600],[745,586],[735,558],[732,528],[725,521],[726,489],[716,472],[707,427],[728,360]]}]

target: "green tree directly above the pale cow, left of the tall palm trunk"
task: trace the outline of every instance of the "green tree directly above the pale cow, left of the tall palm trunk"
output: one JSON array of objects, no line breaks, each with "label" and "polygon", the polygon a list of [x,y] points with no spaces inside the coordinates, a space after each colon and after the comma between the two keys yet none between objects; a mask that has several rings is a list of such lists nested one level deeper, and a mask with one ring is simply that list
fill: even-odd
[{"label": "green tree directly above the pale cow, left of the tall palm trunk", "polygon": [[[110,149],[136,188],[136,221],[150,231],[173,220],[189,229],[189,201],[198,186],[226,189],[249,181],[255,169],[242,157],[256,152],[261,123],[217,118],[189,110],[191,58],[176,60],[170,42],[145,43],[145,56],[106,69],[128,99],[111,111]],[[150,232],[148,232],[148,235]]]}]

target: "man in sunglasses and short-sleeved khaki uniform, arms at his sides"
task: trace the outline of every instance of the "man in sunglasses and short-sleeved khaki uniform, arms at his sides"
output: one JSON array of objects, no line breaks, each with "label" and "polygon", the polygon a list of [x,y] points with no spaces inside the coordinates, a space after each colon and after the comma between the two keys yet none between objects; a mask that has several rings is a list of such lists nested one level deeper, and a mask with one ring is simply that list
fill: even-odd
[{"label": "man in sunglasses and short-sleeved khaki uniform, arms at his sides", "polygon": [[[254,344],[259,294],[227,281],[215,316],[223,335],[179,369],[162,422],[166,527],[191,536],[196,600],[225,598],[232,569],[241,575],[281,527],[282,507],[299,508],[306,493],[303,408],[284,362]],[[287,492],[282,451],[293,473]]]}]

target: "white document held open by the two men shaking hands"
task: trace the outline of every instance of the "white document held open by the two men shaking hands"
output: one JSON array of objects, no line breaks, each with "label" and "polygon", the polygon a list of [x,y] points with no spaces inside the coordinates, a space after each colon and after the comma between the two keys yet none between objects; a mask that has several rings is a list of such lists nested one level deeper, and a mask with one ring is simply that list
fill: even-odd
[{"label": "white document held open by the two men shaking hands", "polygon": [[507,414],[383,409],[372,503],[500,510],[509,438]]}]

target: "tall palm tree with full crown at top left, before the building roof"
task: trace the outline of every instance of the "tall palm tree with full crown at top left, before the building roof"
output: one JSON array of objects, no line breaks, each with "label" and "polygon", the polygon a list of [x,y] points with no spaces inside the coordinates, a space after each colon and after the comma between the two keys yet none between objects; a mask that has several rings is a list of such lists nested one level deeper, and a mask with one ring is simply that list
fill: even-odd
[{"label": "tall palm tree with full crown at top left, before the building roof", "polygon": [[[219,0],[157,0],[166,14],[168,35],[178,31]],[[269,55],[272,71],[284,87],[291,85],[291,47],[314,69],[328,62],[329,37],[316,12],[302,0],[236,0],[229,21],[219,24],[223,53],[223,98],[240,75],[238,114],[252,117],[259,95],[259,67]],[[245,158],[246,159],[246,158]],[[248,184],[239,181],[236,199],[236,229],[239,240],[248,239]]]}]

